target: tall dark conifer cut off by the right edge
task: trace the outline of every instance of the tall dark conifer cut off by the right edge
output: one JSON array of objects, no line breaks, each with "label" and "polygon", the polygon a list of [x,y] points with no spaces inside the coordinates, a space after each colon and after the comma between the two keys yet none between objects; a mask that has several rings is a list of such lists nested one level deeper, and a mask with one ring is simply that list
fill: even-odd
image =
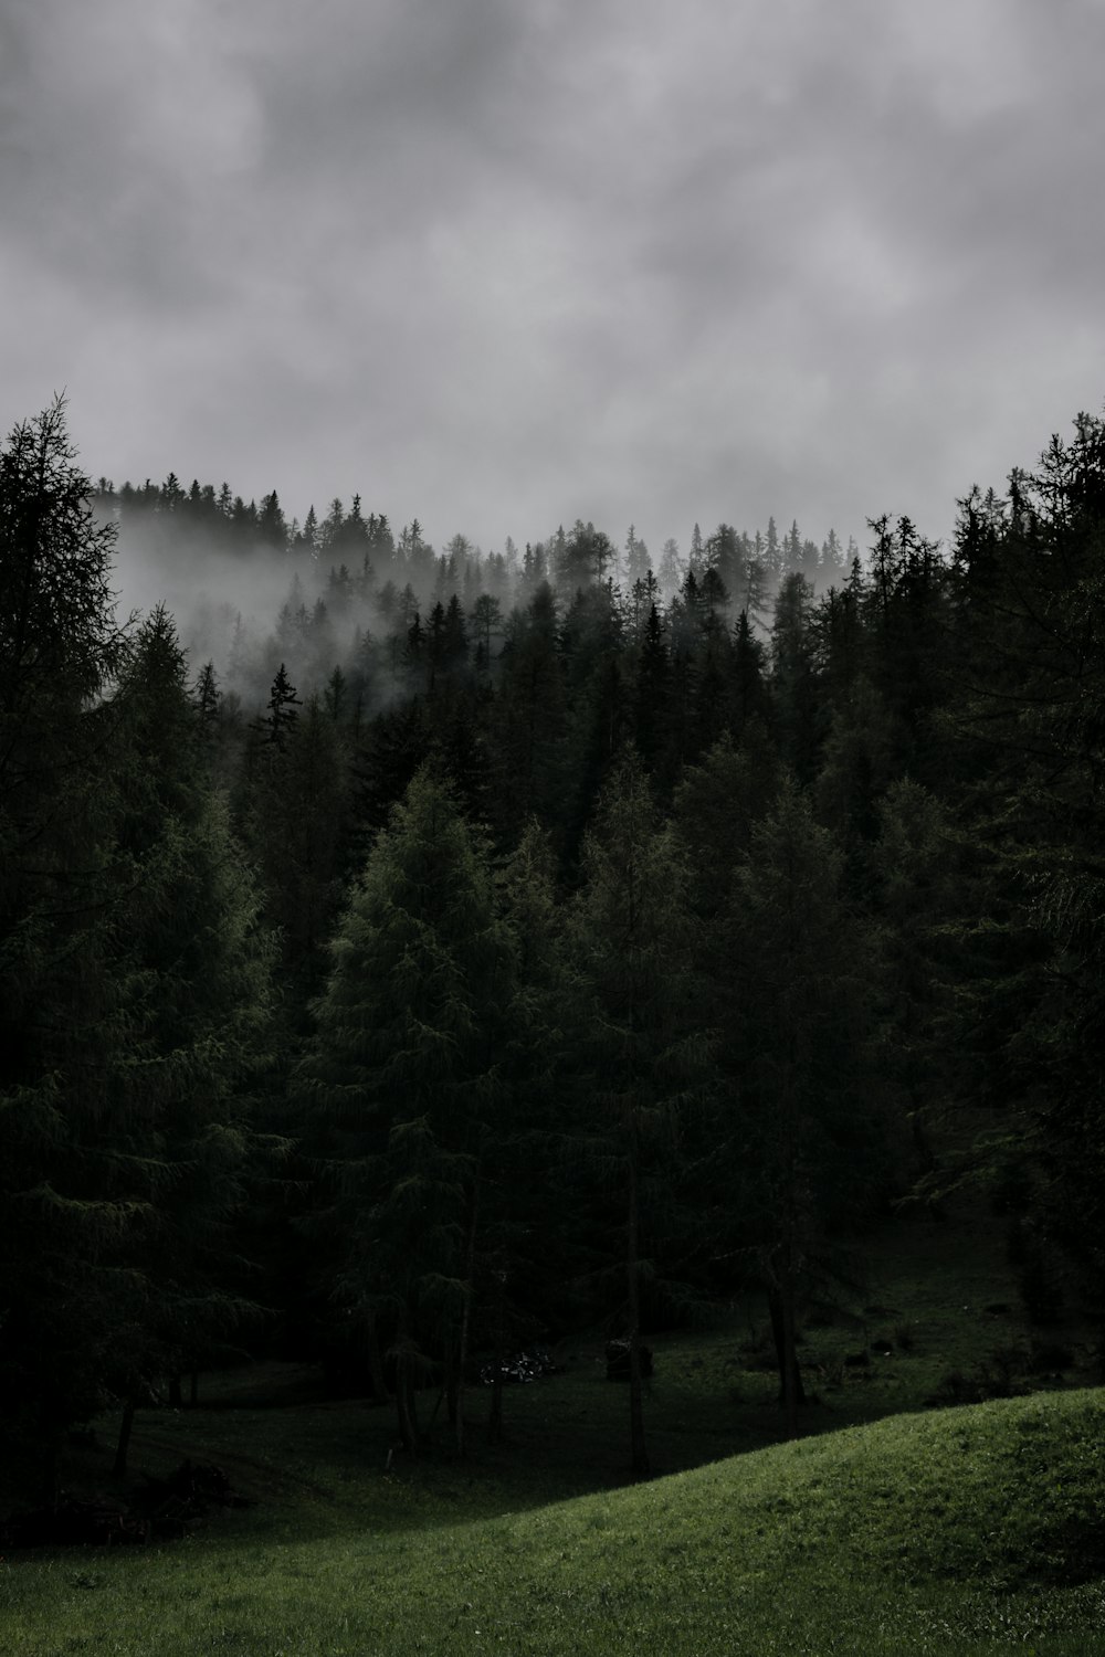
[{"label": "tall dark conifer cut off by the right edge", "polygon": [[[984,873],[956,1036],[1019,1147],[1017,1216],[1105,1307],[1105,421],[1052,437],[1007,502],[961,504],[953,780]],[[1032,1291],[1037,1316],[1054,1314]]]}]

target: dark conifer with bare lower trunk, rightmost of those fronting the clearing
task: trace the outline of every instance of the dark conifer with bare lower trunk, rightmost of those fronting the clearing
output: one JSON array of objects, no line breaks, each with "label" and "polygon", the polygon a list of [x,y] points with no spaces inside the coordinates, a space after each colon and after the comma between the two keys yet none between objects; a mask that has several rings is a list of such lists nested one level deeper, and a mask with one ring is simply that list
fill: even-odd
[{"label": "dark conifer with bare lower trunk, rightmost of those fronting the clearing", "polygon": [[[873,1087],[878,969],[842,896],[843,858],[787,782],[752,827],[729,908],[719,1122],[734,1191],[755,1236],[790,1430],[803,1286],[827,1241],[881,1196],[881,1100]],[[736,1112],[737,1120],[729,1120]],[[747,1234],[747,1233],[746,1233]]]}]

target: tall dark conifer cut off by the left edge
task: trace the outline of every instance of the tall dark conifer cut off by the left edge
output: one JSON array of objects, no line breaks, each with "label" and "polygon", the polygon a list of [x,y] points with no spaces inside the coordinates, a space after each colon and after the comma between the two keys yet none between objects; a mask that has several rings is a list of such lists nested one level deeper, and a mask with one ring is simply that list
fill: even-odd
[{"label": "tall dark conifer cut off by the left edge", "polygon": [[[114,525],[96,524],[65,404],[0,454],[0,1425],[50,1457],[103,1402],[113,1266],[138,1221],[106,1057],[114,717],[126,661]],[[111,1165],[111,1153],[121,1153]]]}]

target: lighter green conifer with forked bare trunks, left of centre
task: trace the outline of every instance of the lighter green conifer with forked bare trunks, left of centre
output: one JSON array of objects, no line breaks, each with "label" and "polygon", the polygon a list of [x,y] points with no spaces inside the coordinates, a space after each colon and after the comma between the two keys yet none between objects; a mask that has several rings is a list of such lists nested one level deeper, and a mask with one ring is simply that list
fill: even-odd
[{"label": "lighter green conifer with forked bare trunks, left of centre", "polygon": [[512,966],[485,852],[429,769],[378,837],[331,963],[302,1087],[336,1175],[335,1292],[369,1336],[391,1337],[404,1445],[417,1443],[416,1380],[437,1359],[462,1448]]}]

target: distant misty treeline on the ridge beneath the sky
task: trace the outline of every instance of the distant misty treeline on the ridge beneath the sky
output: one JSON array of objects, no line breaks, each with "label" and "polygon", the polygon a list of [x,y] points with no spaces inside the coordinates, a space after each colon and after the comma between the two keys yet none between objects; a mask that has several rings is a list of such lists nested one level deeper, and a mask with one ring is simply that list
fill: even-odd
[{"label": "distant misty treeline on the ridge beneath the sky", "polygon": [[504,552],[484,555],[466,535],[436,552],[417,520],[394,535],[386,514],[364,517],[359,495],[348,510],[333,500],[321,520],[311,509],[300,525],[285,520],[275,492],[257,507],[229,484],[215,492],[194,482],[186,492],[172,472],[141,489],[101,479],[94,505],[118,525],[123,550],[174,592],[187,572],[177,623],[247,709],[263,701],[278,663],[297,684],[321,686],[338,669],[358,716],[421,688],[459,651],[492,671],[510,615],[545,587],[562,608],[608,583],[638,618],[659,598],[673,626],[681,615],[692,625],[702,606],[764,623],[787,575],[823,592],[858,557],[855,542],[845,548],[833,530],[818,545],[797,522],[780,535],[774,519],[754,535],[719,524],[704,537],[696,524],[686,557],[668,540],[658,560],[633,525],[618,547],[580,520],[522,552],[507,537]]}]

